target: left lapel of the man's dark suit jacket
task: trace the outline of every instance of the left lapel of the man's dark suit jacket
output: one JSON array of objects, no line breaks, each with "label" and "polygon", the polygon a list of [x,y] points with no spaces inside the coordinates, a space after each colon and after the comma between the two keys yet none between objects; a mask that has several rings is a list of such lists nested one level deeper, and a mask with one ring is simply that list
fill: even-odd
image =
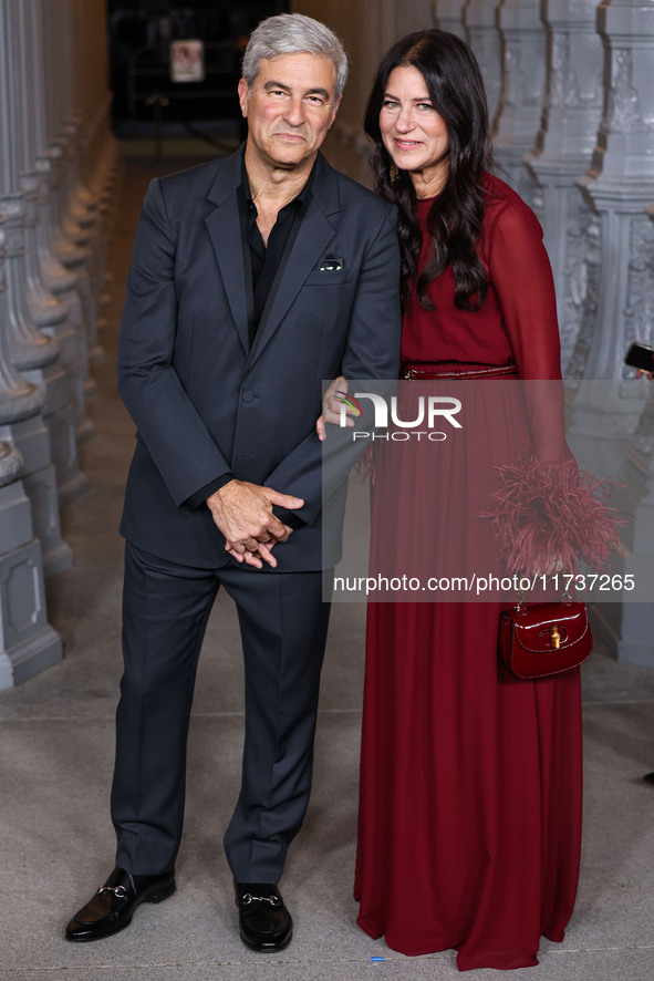
[{"label": "left lapel of the man's dark suit jacket", "polygon": [[241,183],[241,155],[236,153],[225,161],[208,198],[215,205],[205,218],[211,239],[231,316],[243,350],[249,350],[247,283],[243,265],[240,215],[237,189]]}]

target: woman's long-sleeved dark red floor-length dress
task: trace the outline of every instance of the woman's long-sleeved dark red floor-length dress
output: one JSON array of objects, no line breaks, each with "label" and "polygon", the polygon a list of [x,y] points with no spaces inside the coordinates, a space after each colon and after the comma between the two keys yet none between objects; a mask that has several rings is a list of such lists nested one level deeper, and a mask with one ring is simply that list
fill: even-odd
[{"label": "woman's long-sleeved dark red floor-length dress", "polygon": [[[515,362],[521,379],[560,379],[542,230],[504,182],[486,175],[485,184],[487,300],[477,312],[457,309],[454,273],[446,269],[429,286],[435,310],[414,297],[405,314],[403,362]],[[418,202],[421,268],[430,248],[430,205]],[[481,392],[489,382],[459,384]],[[527,427],[510,406],[502,425],[497,406],[494,412],[496,424],[475,446],[476,467],[492,467],[529,445],[543,445],[547,456],[544,413]],[[388,539],[384,488],[391,471],[396,483],[402,473],[401,529],[404,518],[411,524],[419,514],[425,486],[435,507],[468,493],[453,489],[449,464],[456,462],[447,457],[413,472],[397,459],[390,447],[376,463],[373,566],[375,543]],[[442,529],[445,539],[458,536],[446,553],[465,550],[465,524],[455,523],[453,533],[443,520]],[[515,679],[498,662],[502,609],[499,602],[371,602],[367,612],[357,923],[405,954],[456,948],[461,971],[537,964],[541,936],[563,939],[579,877],[579,670],[534,682]]]}]

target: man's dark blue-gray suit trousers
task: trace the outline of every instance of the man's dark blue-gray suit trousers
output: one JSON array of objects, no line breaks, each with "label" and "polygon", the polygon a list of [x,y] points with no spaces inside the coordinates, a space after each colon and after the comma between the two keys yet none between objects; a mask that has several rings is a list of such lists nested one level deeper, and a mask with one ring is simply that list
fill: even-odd
[{"label": "man's dark blue-gray suit trousers", "polygon": [[237,605],[246,678],[242,783],[225,850],[238,881],[279,880],[311,789],[330,615],[322,577],[190,568],[127,543],[112,786],[117,866],[157,875],[175,864],[196,669],[222,585]]}]

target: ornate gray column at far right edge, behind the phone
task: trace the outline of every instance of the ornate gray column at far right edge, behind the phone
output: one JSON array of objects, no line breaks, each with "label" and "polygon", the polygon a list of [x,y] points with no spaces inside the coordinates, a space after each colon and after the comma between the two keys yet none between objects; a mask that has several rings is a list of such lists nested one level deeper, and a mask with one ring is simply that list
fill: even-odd
[{"label": "ornate gray column at far right edge, behind the phone", "polygon": [[[630,498],[624,509],[639,520],[624,561],[642,582],[654,567],[654,393],[651,384],[634,381],[623,359],[632,341],[654,341],[654,226],[646,213],[654,200],[654,0],[600,3],[598,29],[609,90],[592,164],[577,184],[599,216],[599,287],[588,310],[594,330],[586,381],[570,406],[570,438],[574,448],[578,435],[583,437],[584,459],[594,473],[610,473],[604,459],[616,450],[626,456],[620,477]],[[642,662],[647,629],[652,641],[651,605],[624,599],[606,610],[598,605],[598,620],[621,658]]]}]

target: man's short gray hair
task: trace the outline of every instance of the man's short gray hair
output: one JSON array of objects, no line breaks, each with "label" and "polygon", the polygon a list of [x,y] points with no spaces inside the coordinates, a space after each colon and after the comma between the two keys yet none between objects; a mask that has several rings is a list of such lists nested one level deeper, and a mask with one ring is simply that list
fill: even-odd
[{"label": "man's short gray hair", "polygon": [[252,31],[243,54],[243,79],[252,91],[262,58],[280,54],[323,54],[336,70],[336,100],[347,81],[347,55],[333,31],[302,13],[280,13],[262,20]]}]

